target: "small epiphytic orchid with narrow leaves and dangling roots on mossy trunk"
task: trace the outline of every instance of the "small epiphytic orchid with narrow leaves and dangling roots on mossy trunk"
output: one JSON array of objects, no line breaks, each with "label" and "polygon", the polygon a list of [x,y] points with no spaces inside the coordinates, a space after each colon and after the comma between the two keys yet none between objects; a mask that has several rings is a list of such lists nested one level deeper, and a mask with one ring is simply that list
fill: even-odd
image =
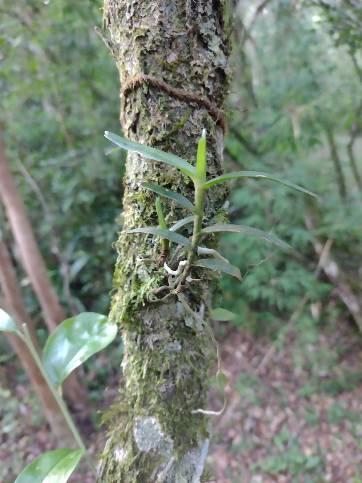
[{"label": "small epiphytic orchid with narrow leaves and dangling roots on mossy trunk", "polygon": [[[218,183],[223,183],[224,181],[231,180],[231,179],[238,179],[238,178],[265,178],[272,181],[277,181],[286,186],[290,186],[298,191],[302,191],[311,196],[316,196],[314,193],[302,188],[301,186],[294,185],[289,181],[281,179],[273,174],[268,174],[264,172],[258,171],[237,171],[232,173],[222,174],[221,176],[217,176],[216,178],[206,180],[207,176],[207,159],[206,159],[206,131],[203,129],[201,138],[198,142],[197,148],[197,157],[196,157],[196,167],[192,166],[188,161],[182,159],[179,156],[175,156],[173,154],[165,153],[159,149],[155,149],[149,146],[145,146],[143,144],[139,144],[138,142],[129,141],[124,139],[116,134],[106,131],[105,137],[110,141],[118,144],[123,149],[126,149],[130,152],[139,153],[141,156],[144,156],[148,159],[153,159],[154,161],[161,161],[167,163],[175,168],[179,169],[187,176],[189,176],[194,184],[195,193],[194,193],[194,202],[191,202],[189,199],[185,198],[181,193],[177,193],[171,191],[160,185],[153,185],[152,183],[142,183],[141,186],[143,188],[150,189],[154,193],[160,196],[164,196],[169,199],[175,200],[177,203],[182,205],[184,208],[187,208],[192,214],[182,220],[179,220],[175,225],[172,227],[167,227],[167,223],[165,221],[165,216],[162,211],[161,200],[156,198],[156,213],[158,216],[159,227],[140,227],[140,228],[133,228],[130,230],[125,229],[125,233],[149,233],[154,236],[161,237],[161,251],[156,258],[156,254],[152,250],[152,258],[144,258],[142,256],[137,257],[137,261],[139,262],[153,262],[153,265],[156,269],[164,268],[165,271],[154,270],[154,273],[157,275],[162,275],[167,278],[168,284],[162,285],[161,287],[153,288],[149,291],[147,295],[147,300],[150,303],[164,301],[166,298],[170,297],[171,295],[177,296],[182,305],[185,307],[187,312],[191,313],[196,320],[200,321],[204,327],[207,328],[209,334],[211,336],[212,341],[216,346],[217,357],[218,357],[218,371],[216,374],[216,380],[219,385],[219,388],[223,394],[224,404],[223,408],[219,412],[213,411],[204,411],[203,409],[196,409],[193,412],[202,412],[206,414],[221,414],[226,406],[226,398],[223,392],[223,382],[224,379],[223,374],[221,373],[221,357],[220,357],[220,348],[219,344],[216,341],[214,334],[212,332],[211,327],[207,322],[205,322],[201,317],[199,317],[187,304],[185,298],[183,297],[182,292],[184,291],[185,287],[189,286],[189,284],[196,283],[198,280],[192,278],[192,269],[193,267],[203,267],[209,270],[217,270],[220,272],[228,273],[237,277],[240,281],[242,281],[240,270],[231,265],[230,262],[221,256],[216,250],[204,247],[200,244],[200,241],[204,235],[208,233],[214,232],[223,232],[223,231],[231,231],[236,233],[243,233],[246,235],[251,235],[254,237],[258,237],[260,239],[269,241],[270,243],[274,243],[278,245],[280,248],[283,249],[291,249],[292,247],[285,243],[282,240],[279,240],[277,237],[265,233],[257,228],[247,227],[244,225],[230,225],[230,224],[217,224],[212,226],[203,227],[203,217],[204,217],[204,205],[205,205],[205,194],[206,190],[209,189],[211,186],[216,185]],[[119,148],[116,148],[119,149]],[[184,236],[177,233],[181,227],[186,225],[187,223],[194,223],[193,227],[193,235],[191,240],[188,240]],[[169,265],[172,265],[172,261],[176,259],[175,256],[172,257],[171,262],[167,263],[168,255],[169,255],[169,247],[170,242],[173,241],[178,243],[179,247],[184,247],[187,252],[187,256],[185,259],[179,261],[178,266],[172,268]],[[176,249],[176,253],[178,253],[178,248]],[[199,258],[198,256],[207,256],[203,258]],[[157,298],[157,294],[165,293],[161,298]],[[225,314],[223,314],[224,316]],[[232,316],[232,315],[231,315]],[[222,320],[225,320],[223,318]]]}]

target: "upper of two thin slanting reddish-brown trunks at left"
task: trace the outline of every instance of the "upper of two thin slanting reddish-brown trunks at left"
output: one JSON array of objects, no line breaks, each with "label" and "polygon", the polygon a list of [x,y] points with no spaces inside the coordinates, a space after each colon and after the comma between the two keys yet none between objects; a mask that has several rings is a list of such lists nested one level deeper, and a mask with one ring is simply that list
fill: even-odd
[{"label": "upper of two thin slanting reddish-brown trunks at left", "polygon": [[[5,157],[0,130],[0,197],[5,205],[14,238],[19,246],[24,268],[42,307],[45,323],[50,332],[67,317],[60,305],[56,290],[50,280],[45,262],[40,253],[37,241],[24,202],[17,190],[14,178]],[[86,393],[72,372],[64,381],[64,392],[74,405],[83,406]]]}]

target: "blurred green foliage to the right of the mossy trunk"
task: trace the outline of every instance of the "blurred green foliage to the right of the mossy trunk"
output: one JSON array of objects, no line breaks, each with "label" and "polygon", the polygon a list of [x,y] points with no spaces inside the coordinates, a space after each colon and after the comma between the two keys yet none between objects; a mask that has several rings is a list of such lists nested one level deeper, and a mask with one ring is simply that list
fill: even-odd
[{"label": "blurred green foliage to the right of the mossy trunk", "polygon": [[[361,21],[361,8],[357,10]],[[230,323],[259,334],[276,335],[307,292],[310,318],[310,303],[319,302],[320,316],[336,317],[336,306],[337,313],[349,317],[328,277],[323,272],[314,276],[319,256],[313,243],[333,240],[331,256],[361,296],[362,192],[347,149],[352,126],[357,124],[354,150],[361,173],[361,52],[353,51],[352,57],[346,41],[338,37],[343,26],[337,14],[331,36],[332,20],[325,18],[325,8],[306,2],[269,2],[259,16],[244,2],[237,4],[234,17],[236,33],[241,19],[245,29],[234,47],[231,103],[248,111],[235,111],[230,121],[229,163],[233,169],[278,173],[314,191],[319,199],[313,202],[267,181],[235,185],[232,222],[270,230],[290,243],[294,253],[286,255],[246,236],[225,235],[223,253],[244,267],[246,277],[242,285],[223,278],[221,305],[237,313]],[[328,132],[341,173],[335,169]],[[310,217],[314,230],[306,227]]]}]

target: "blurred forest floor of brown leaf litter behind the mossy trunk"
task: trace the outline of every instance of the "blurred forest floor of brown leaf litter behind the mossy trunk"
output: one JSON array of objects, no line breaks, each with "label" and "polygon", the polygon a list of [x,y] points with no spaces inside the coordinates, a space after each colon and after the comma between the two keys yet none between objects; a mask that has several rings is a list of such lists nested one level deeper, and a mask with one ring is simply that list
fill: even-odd
[{"label": "blurred forest floor of brown leaf litter behind the mossy trunk", "polygon": [[[213,418],[207,467],[215,478],[209,481],[362,483],[362,342],[353,327],[294,330],[264,368],[260,362],[271,347],[266,338],[227,329],[219,340],[228,407]],[[13,483],[55,441],[27,382],[14,383],[18,375],[11,369],[5,375],[15,385],[11,397],[0,392],[0,481]],[[103,407],[112,394],[105,393]],[[218,410],[221,403],[212,390],[210,406]],[[88,437],[93,454],[104,445],[99,434]],[[93,481],[85,465],[70,480]]]}]

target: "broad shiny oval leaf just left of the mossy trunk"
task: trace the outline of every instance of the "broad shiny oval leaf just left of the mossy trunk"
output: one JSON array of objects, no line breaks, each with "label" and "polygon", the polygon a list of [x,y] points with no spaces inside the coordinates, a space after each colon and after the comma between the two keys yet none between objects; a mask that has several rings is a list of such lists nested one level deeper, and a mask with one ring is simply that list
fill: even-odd
[{"label": "broad shiny oval leaf just left of the mossy trunk", "polygon": [[118,332],[105,315],[84,312],[62,322],[48,337],[43,351],[45,369],[55,386],[91,355],[107,347]]}]

